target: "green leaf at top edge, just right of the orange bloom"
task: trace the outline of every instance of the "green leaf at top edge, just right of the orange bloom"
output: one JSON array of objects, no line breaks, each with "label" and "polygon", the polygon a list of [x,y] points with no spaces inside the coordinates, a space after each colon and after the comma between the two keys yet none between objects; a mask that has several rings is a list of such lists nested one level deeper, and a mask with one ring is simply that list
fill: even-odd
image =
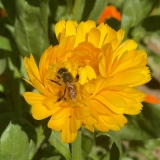
[{"label": "green leaf at top edge, just right of the orange bloom", "polygon": [[140,1],[125,1],[122,9],[121,27],[128,32],[130,27],[135,26],[139,22],[141,11]]}]

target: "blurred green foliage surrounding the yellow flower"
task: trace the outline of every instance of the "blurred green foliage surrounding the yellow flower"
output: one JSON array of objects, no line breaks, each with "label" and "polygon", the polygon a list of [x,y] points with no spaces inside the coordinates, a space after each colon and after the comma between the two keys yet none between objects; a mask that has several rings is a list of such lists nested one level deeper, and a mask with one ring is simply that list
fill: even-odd
[{"label": "blurred green foliage surrounding the yellow flower", "polygon": [[[33,90],[22,80],[27,78],[23,58],[33,53],[38,62],[50,44],[58,43],[54,34],[57,21],[98,22],[106,5],[114,5],[122,14],[121,22],[111,18],[106,23],[116,30],[125,29],[125,39],[136,40],[138,47],[146,50],[153,75],[148,86],[160,89],[159,0],[1,0],[0,159],[70,159],[69,145],[60,143],[59,133],[51,133],[47,120],[32,118],[22,97],[25,91]],[[93,134],[83,130],[83,159],[160,159],[160,106],[145,103],[141,114],[127,118],[119,132]]]}]

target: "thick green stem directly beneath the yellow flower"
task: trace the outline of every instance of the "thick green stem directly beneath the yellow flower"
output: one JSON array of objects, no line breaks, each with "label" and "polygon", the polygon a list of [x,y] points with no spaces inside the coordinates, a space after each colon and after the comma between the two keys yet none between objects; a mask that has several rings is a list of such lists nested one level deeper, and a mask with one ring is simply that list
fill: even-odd
[{"label": "thick green stem directly beneath the yellow flower", "polygon": [[81,130],[78,131],[77,138],[71,144],[72,160],[81,160]]}]

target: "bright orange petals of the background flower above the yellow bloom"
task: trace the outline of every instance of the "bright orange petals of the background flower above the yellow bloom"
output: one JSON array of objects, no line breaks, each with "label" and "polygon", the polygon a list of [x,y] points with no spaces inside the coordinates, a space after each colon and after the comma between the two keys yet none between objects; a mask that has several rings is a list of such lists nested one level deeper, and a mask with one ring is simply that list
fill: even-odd
[{"label": "bright orange petals of the background flower above the yellow bloom", "polygon": [[100,15],[98,24],[105,22],[106,19],[109,19],[111,17],[117,19],[118,21],[121,21],[121,13],[117,11],[117,9],[114,6],[106,6],[104,11]]}]

